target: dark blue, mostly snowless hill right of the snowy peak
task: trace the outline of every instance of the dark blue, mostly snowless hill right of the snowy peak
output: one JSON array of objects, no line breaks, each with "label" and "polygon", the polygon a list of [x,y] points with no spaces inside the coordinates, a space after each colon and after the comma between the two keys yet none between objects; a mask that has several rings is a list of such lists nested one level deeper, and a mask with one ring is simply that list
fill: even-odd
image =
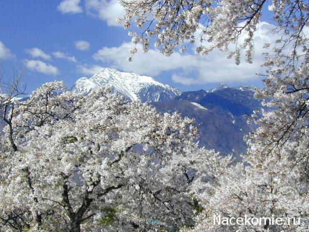
[{"label": "dark blue, mostly snowless hill right of the snowy peak", "polygon": [[[222,84],[221,84],[222,85]],[[181,113],[195,118],[200,127],[200,145],[216,149],[223,155],[246,151],[243,137],[253,129],[247,124],[253,110],[261,108],[261,102],[253,97],[250,87],[220,87],[210,91],[184,92],[168,102],[151,103],[160,112]],[[234,152],[232,150],[234,149]]]}]

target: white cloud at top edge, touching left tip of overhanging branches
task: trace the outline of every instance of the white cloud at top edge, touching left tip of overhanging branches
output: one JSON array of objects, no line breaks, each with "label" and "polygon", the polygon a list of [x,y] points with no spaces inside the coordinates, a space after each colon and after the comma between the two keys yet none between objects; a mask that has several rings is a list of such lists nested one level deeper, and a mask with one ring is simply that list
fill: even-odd
[{"label": "white cloud at top edge, touching left tip of overhanging branches", "polygon": [[105,20],[108,26],[122,27],[116,22],[117,17],[124,15],[124,7],[118,0],[86,0],[86,11],[90,15]]}]

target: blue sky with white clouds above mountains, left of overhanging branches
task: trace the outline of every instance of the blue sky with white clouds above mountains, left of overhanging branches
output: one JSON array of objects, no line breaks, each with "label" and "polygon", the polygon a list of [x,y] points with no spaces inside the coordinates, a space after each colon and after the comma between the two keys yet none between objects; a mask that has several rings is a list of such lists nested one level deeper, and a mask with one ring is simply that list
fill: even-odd
[{"label": "blue sky with white clouds above mountains, left of overhanging branches", "polygon": [[252,65],[242,62],[236,66],[219,51],[208,56],[188,51],[164,57],[155,49],[128,62],[131,37],[115,22],[121,14],[117,0],[2,0],[0,59],[6,78],[13,66],[26,66],[23,82],[31,92],[54,80],[63,80],[71,87],[99,67],[114,67],[152,76],[183,91],[210,89],[221,82],[261,85],[255,73],[262,62],[262,44],[269,39],[263,34],[271,26],[268,23],[262,23],[258,30]]}]

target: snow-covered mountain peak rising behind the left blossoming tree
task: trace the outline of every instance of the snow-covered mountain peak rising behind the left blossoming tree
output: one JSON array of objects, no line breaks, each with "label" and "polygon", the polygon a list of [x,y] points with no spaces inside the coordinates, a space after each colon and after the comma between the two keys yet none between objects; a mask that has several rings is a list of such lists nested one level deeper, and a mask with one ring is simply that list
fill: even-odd
[{"label": "snow-covered mountain peak rising behind the left blossoming tree", "polygon": [[141,102],[168,101],[181,94],[181,91],[155,81],[152,77],[140,76],[135,73],[120,72],[113,68],[102,68],[91,78],[82,77],[77,80],[73,90],[88,94],[101,86],[111,87],[126,99]]}]

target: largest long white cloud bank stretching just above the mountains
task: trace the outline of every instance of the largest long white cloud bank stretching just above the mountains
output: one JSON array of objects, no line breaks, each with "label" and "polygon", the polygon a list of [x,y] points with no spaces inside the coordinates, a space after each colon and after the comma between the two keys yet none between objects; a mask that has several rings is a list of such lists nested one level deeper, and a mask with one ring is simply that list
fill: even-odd
[{"label": "largest long white cloud bank stretching just above the mountains", "polygon": [[172,80],[176,83],[246,83],[258,78],[255,74],[262,70],[263,44],[275,39],[273,35],[265,34],[269,27],[271,25],[268,23],[259,25],[255,35],[253,64],[246,63],[243,57],[242,63],[236,66],[233,59],[226,59],[226,53],[219,50],[204,56],[174,52],[170,57],[166,57],[159,50],[151,49],[147,53],[136,53],[133,62],[129,62],[127,56],[128,49],[133,47],[131,43],[123,43],[120,47],[104,47],[93,54],[93,59],[141,75],[156,76],[164,71],[171,71]]}]

